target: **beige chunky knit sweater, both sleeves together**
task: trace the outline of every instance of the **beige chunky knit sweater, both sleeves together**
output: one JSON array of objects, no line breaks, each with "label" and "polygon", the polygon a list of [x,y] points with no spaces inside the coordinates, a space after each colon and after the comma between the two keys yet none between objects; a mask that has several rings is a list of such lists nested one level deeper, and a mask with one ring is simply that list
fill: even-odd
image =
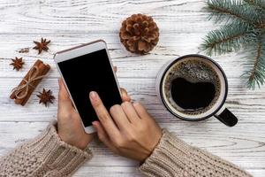
[{"label": "beige chunky knit sweater, both sleeves together", "polygon": [[[61,141],[55,124],[51,124],[42,135],[0,159],[0,177],[71,176],[90,158],[90,150],[79,150]],[[154,177],[251,176],[236,165],[189,146],[167,130],[163,130],[155,150],[140,165],[140,172]]]}]

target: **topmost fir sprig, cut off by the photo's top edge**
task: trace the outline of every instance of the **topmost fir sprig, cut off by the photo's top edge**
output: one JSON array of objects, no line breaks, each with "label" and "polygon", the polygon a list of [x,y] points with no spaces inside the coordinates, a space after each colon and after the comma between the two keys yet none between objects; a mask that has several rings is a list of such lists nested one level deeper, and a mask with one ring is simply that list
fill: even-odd
[{"label": "topmost fir sprig, cut off by the photo's top edge", "polygon": [[259,25],[260,17],[250,11],[250,7],[246,6],[239,0],[208,0],[208,12],[211,12],[209,19],[213,17],[216,18],[216,23],[218,21],[223,21],[227,19],[227,22],[230,20],[239,20],[252,26]]}]

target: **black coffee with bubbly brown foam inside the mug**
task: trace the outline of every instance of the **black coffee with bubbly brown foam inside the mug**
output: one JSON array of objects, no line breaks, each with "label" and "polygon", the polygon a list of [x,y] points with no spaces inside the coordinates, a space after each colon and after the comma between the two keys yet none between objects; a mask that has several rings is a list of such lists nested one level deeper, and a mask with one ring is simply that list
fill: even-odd
[{"label": "black coffee with bubbly brown foam inside the mug", "polygon": [[211,65],[200,58],[186,58],[170,67],[164,80],[164,92],[178,112],[200,114],[216,104],[220,81]]}]

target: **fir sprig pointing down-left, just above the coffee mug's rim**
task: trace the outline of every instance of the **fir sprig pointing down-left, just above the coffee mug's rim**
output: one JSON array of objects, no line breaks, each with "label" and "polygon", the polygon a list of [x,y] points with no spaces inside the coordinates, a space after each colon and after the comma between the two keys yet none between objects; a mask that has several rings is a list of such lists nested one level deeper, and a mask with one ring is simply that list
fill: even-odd
[{"label": "fir sprig pointing down-left, just above the coffee mug's rim", "polygon": [[241,23],[225,25],[206,35],[201,50],[206,50],[208,55],[239,51],[246,43],[248,35],[252,34],[252,30],[251,27]]}]

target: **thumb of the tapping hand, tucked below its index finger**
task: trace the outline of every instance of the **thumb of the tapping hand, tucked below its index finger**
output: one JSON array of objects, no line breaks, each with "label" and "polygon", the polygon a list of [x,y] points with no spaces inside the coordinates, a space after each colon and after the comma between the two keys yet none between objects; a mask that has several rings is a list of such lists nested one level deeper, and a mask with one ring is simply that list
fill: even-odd
[{"label": "thumb of the tapping hand, tucked below its index finger", "polygon": [[110,137],[107,135],[106,131],[102,127],[102,124],[99,121],[92,122],[93,127],[97,132],[97,136],[110,150],[115,150],[114,145],[110,142]]}]

